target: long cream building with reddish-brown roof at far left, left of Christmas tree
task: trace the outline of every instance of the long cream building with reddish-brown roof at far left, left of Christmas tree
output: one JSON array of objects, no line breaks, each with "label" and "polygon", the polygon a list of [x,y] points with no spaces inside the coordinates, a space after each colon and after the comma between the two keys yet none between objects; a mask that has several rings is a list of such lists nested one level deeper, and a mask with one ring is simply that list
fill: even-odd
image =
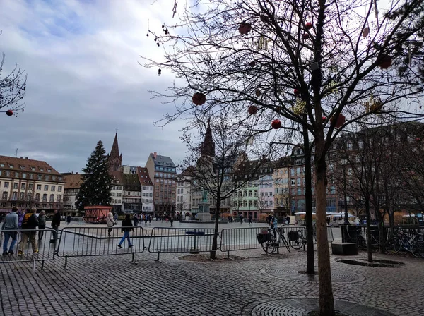
[{"label": "long cream building with reddish-brown roof at far left, left of Christmas tree", "polygon": [[63,209],[63,176],[47,162],[0,156],[0,207]]}]

